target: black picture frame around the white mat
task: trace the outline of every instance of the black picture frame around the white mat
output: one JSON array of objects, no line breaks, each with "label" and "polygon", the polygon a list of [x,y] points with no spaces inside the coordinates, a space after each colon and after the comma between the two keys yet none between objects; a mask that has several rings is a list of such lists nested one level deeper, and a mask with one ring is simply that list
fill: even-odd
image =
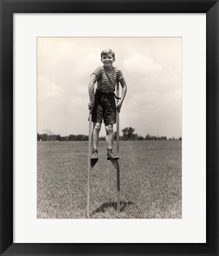
[{"label": "black picture frame around the white mat", "polygon": [[[218,0],[0,0],[1,5],[1,255],[219,255],[218,254]],[[113,2],[113,4],[112,4]],[[205,244],[13,243],[13,14],[206,13],[207,19],[207,242]],[[198,97],[198,95],[197,95]]]}]

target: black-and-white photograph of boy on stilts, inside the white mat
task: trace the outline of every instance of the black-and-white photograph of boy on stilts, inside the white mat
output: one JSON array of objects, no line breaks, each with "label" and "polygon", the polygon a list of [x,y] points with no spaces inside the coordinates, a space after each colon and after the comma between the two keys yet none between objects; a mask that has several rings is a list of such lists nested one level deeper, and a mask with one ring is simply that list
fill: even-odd
[{"label": "black-and-white photograph of boy on stilts, inside the white mat", "polygon": [[37,219],[182,219],[182,37],[37,38]]}]

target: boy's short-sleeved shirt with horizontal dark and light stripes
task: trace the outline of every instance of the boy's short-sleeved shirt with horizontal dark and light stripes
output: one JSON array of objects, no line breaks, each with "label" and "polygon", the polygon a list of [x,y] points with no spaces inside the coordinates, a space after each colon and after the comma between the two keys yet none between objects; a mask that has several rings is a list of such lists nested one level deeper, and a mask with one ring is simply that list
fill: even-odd
[{"label": "boy's short-sleeved shirt with horizontal dark and light stripes", "polygon": [[97,90],[102,92],[115,92],[116,83],[123,78],[122,71],[113,67],[111,72],[107,72],[104,66],[97,67],[93,74],[98,77]]}]

